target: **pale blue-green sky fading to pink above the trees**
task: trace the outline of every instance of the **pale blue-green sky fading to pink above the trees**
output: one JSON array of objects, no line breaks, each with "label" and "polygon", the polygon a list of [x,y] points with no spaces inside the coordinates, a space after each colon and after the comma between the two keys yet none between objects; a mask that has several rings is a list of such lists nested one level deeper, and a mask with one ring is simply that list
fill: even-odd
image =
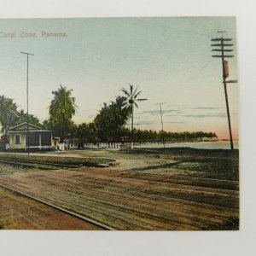
[{"label": "pale blue-green sky fading to pink above the trees", "polygon": [[[52,91],[73,89],[79,107],[75,123],[90,122],[103,102],[114,101],[129,84],[142,90],[135,127],[165,131],[212,131],[228,138],[222,67],[212,58],[217,31],[233,38],[230,78],[238,79],[236,18],[85,18],[0,20],[0,95],[26,110],[26,55],[29,52],[29,112],[47,119]],[[35,38],[22,38],[35,33]],[[66,33],[46,38],[42,32]],[[14,38],[4,38],[15,33]],[[228,84],[232,132],[238,138],[238,84]]]}]

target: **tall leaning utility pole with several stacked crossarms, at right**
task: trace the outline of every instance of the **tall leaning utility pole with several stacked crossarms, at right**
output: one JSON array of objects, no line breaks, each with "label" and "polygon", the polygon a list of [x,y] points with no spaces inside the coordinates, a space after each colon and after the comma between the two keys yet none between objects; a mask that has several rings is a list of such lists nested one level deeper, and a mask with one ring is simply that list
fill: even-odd
[{"label": "tall leaning utility pole with several stacked crossarms, at right", "polygon": [[221,58],[222,61],[222,72],[223,72],[223,84],[224,84],[224,95],[226,101],[226,108],[227,108],[227,116],[228,116],[228,123],[229,123],[229,131],[230,131],[230,149],[234,152],[234,145],[233,145],[233,137],[231,131],[231,123],[230,123],[230,108],[229,108],[229,99],[228,99],[228,92],[227,92],[227,83],[237,83],[237,80],[230,80],[227,81],[226,79],[229,77],[229,66],[228,61],[225,61],[225,58],[232,58],[234,55],[226,54],[227,52],[232,52],[233,49],[226,49],[225,47],[233,46],[234,44],[227,44],[226,42],[230,42],[232,38],[224,38],[223,33],[224,31],[218,31],[221,33],[221,38],[212,38],[212,42],[217,42],[217,44],[212,44],[213,47],[220,47],[218,49],[212,49],[212,51],[220,52],[220,55],[212,55],[213,58]]}]

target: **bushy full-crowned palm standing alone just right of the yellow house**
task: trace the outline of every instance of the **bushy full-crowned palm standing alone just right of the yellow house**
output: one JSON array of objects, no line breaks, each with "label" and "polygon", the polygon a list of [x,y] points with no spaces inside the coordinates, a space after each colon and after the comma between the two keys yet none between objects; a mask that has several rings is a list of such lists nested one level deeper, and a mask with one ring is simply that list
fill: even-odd
[{"label": "bushy full-crowned palm standing alone just right of the yellow house", "polygon": [[60,85],[58,90],[52,91],[54,98],[49,105],[49,122],[59,129],[61,143],[64,141],[67,127],[78,108],[72,97],[72,91]]}]

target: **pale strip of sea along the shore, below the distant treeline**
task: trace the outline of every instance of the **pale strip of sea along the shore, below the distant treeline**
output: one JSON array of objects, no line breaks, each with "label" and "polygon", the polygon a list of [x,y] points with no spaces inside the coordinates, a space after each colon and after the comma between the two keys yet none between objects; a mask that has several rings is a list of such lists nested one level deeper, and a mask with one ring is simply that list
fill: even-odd
[{"label": "pale strip of sea along the shore, below the distant treeline", "polygon": [[[234,141],[234,148],[238,149],[239,142]],[[163,148],[163,144],[143,144],[135,148]],[[167,143],[166,148],[201,148],[201,149],[230,149],[229,141],[202,142],[202,143]]]}]

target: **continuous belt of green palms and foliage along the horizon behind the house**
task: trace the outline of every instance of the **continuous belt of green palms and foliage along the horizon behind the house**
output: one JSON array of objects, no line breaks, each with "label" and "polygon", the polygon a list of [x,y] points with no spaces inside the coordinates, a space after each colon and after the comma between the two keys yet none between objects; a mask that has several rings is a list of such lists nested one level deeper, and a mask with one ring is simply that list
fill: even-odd
[{"label": "continuous belt of green palms and foliage along the horizon behind the house", "polygon": [[[78,137],[84,142],[161,142],[163,138],[168,142],[177,141],[195,141],[203,137],[216,137],[213,132],[166,132],[152,130],[138,130],[133,127],[133,111],[138,108],[137,102],[146,99],[139,98],[142,91],[134,89],[130,84],[129,90],[123,88],[121,91],[125,96],[116,96],[110,104],[103,103],[103,107],[96,114],[96,118],[89,124],[74,124],[72,117],[76,112],[77,106],[72,96],[73,90],[67,90],[60,85],[58,90],[52,91],[54,96],[49,106],[49,119],[40,124],[37,117],[29,114],[29,123],[41,126],[44,129],[54,131],[55,137],[61,137],[61,142],[67,134]],[[128,119],[131,118],[131,130],[125,128]],[[26,113],[23,109],[18,110],[13,99],[6,96],[0,96],[0,123],[3,129],[9,129],[11,126],[26,122]]]}]

